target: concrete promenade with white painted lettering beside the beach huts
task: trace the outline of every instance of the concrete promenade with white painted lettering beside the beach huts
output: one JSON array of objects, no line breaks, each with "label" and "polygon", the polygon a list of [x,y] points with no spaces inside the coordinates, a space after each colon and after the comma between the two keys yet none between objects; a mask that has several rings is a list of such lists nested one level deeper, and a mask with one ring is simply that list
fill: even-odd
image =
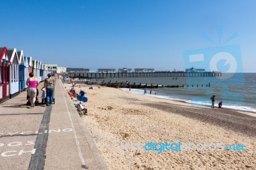
[{"label": "concrete promenade with white painted lettering beside the beach huts", "polygon": [[26,91],[0,104],[0,169],[108,169],[60,79],[52,107],[41,105],[42,86],[38,106]]}]

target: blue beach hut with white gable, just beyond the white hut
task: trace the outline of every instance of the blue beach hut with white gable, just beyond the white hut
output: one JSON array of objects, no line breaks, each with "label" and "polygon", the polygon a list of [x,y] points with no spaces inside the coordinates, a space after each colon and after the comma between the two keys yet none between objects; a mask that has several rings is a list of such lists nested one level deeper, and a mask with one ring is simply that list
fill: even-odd
[{"label": "blue beach hut with white gable, just beyond the white hut", "polygon": [[17,51],[19,57],[19,91],[24,91],[25,89],[25,59],[23,50]]}]

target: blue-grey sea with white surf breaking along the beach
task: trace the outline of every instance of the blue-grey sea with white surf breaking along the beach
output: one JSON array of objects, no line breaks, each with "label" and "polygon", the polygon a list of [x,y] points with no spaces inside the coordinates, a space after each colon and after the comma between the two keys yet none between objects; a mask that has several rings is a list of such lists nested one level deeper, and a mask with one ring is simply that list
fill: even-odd
[{"label": "blue-grey sea with white surf breaking along the beach", "polygon": [[[221,77],[119,77],[106,78],[104,81],[184,85],[181,88],[149,88],[146,95],[150,95],[151,90],[151,96],[184,101],[199,107],[200,105],[211,107],[211,97],[215,95],[216,107],[220,101],[223,101],[223,108],[256,113],[256,73],[222,73]],[[121,89],[127,93],[144,95],[144,89],[131,89],[131,91],[127,88]]]}]

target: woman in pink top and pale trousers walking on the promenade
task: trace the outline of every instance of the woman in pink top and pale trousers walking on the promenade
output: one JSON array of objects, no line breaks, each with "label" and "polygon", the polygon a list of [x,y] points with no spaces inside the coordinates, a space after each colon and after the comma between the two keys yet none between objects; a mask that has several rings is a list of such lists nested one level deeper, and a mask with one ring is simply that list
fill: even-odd
[{"label": "woman in pink top and pale trousers walking on the promenade", "polygon": [[35,101],[36,101],[36,88],[38,86],[39,82],[34,77],[34,73],[29,73],[29,77],[26,81],[26,85],[28,86],[28,95],[29,95],[29,100],[31,103],[31,107],[35,107]]}]

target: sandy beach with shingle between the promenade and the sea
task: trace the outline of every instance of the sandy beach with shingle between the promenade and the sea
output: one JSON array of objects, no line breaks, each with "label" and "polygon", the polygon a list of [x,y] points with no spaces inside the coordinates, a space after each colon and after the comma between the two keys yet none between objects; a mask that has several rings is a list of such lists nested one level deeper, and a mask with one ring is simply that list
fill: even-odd
[{"label": "sandy beach with shingle between the promenade and the sea", "polygon": [[[71,84],[65,84],[68,89]],[[81,84],[86,91],[88,116],[82,116],[109,169],[255,169],[255,113],[193,107],[185,102],[121,89]],[[78,101],[74,100],[74,104]],[[146,151],[140,143],[195,143],[184,151]],[[212,144],[211,144],[212,143]],[[231,151],[217,143],[234,144]],[[201,145],[200,145],[201,144]],[[202,144],[209,144],[208,148]],[[237,146],[240,144],[239,146]],[[240,146],[243,149],[241,149]],[[203,148],[200,148],[203,146]],[[160,146],[159,146],[160,147]],[[207,150],[208,148],[208,150]],[[212,148],[212,150],[211,150]],[[240,151],[238,151],[240,148]],[[187,148],[188,149],[188,148]],[[215,150],[214,150],[215,149]]]}]

